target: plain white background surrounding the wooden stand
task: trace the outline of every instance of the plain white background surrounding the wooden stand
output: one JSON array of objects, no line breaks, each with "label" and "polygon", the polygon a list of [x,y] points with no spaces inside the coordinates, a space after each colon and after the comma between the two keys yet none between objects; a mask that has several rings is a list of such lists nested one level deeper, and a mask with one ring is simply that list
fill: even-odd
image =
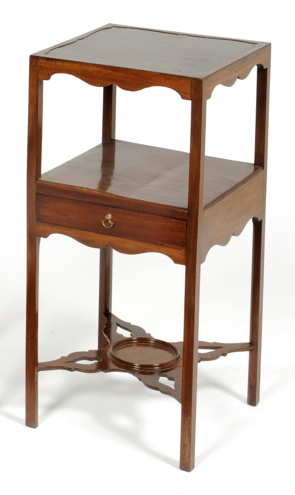
[{"label": "plain white background surrounding the wooden stand", "polygon": [[[205,3],[205,4],[204,4]],[[0,486],[5,494],[292,493],[294,465],[294,70],[291,2],[5,2],[1,8]],[[261,400],[247,353],[201,363],[196,468],[181,472],[180,405],[131,375],[39,374],[40,426],[24,426],[25,190],[29,54],[108,22],[272,43]],[[206,153],[253,161],[255,69],[208,101]],[[100,142],[102,89],[44,82],[43,171]],[[190,102],[118,90],[118,139],[189,149]],[[202,265],[200,339],[249,339],[252,225]],[[40,360],[96,347],[99,251],[41,241]],[[182,339],[184,267],[114,253],[113,311]]]}]

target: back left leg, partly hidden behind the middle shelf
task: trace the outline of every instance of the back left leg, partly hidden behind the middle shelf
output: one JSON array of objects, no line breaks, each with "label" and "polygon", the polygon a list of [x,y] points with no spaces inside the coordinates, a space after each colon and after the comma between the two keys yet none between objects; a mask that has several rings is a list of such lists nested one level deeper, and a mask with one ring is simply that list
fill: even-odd
[{"label": "back left leg, partly hidden behind the middle shelf", "polygon": [[[116,85],[114,83],[103,88],[102,142],[115,139],[116,128]],[[112,267],[113,249],[100,249],[99,261],[99,312],[98,312],[98,348],[105,347],[108,342],[103,335],[104,315],[112,310]]]}]

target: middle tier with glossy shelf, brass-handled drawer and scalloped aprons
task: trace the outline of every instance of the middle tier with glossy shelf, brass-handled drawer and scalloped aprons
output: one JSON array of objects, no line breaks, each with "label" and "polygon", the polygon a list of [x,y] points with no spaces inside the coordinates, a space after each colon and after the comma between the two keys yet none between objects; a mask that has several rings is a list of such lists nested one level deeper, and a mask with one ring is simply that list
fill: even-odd
[{"label": "middle tier with glossy shelf, brass-handled drawer and scalloped aprons", "polygon": [[[102,143],[37,181],[37,235],[65,234],[130,254],[163,252],[184,264],[188,174],[189,153]],[[263,183],[258,166],[205,157],[202,261],[212,246],[225,246],[261,218]],[[112,225],[104,223],[108,216]]]}]

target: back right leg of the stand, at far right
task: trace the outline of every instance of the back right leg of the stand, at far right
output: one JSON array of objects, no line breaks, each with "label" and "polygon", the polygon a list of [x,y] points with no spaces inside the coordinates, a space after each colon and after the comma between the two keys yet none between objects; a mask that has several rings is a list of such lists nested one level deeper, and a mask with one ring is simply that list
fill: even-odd
[{"label": "back right leg of the stand, at far right", "polygon": [[263,261],[265,231],[265,190],[268,136],[269,72],[257,67],[256,126],[255,126],[255,165],[264,169],[262,219],[253,219],[253,259],[250,342],[254,349],[249,353],[248,403],[257,405],[260,390],[261,327],[263,294]]}]

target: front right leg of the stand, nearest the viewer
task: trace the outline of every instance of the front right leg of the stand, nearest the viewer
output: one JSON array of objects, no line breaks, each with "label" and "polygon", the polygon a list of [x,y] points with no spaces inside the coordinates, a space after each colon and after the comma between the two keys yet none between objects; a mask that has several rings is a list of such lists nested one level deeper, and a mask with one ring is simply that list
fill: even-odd
[{"label": "front right leg of the stand, nearest the viewer", "polygon": [[191,471],[195,464],[201,227],[206,127],[206,97],[201,80],[197,79],[192,82],[191,99],[180,440],[180,469],[184,471]]}]

